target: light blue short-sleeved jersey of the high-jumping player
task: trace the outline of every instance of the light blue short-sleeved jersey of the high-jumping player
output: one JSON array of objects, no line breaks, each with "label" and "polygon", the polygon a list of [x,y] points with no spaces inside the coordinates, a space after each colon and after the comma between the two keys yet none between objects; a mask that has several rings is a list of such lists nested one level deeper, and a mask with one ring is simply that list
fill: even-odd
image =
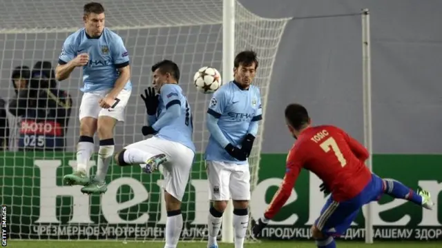
[{"label": "light blue short-sleeved jersey of the high-jumping player", "polygon": [[[122,38],[108,28],[104,28],[100,37],[91,38],[81,28],[64,41],[58,63],[64,65],[85,52],[89,54],[89,63],[83,66],[84,85],[80,90],[94,92],[113,88],[119,76],[118,68],[129,64],[129,55]],[[126,83],[124,89],[132,89],[131,81]]]}]

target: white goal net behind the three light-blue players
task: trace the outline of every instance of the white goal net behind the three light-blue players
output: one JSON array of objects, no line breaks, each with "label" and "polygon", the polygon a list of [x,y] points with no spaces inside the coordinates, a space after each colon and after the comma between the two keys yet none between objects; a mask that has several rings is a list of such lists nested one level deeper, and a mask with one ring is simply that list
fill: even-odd
[{"label": "white goal net behind the three light-blue players", "polygon": [[[124,39],[131,58],[133,91],[126,107],[126,121],[115,129],[116,150],[143,138],[141,127],[146,123],[146,110],[140,94],[151,85],[151,65],[171,59],[180,66],[180,86],[193,109],[193,139],[198,150],[183,199],[182,239],[204,240],[209,189],[201,154],[209,138],[205,113],[211,96],[198,93],[192,78],[202,66],[232,70],[222,68],[222,0],[101,2],[106,10],[106,26]],[[1,1],[1,99],[7,103],[16,97],[11,81],[16,66],[32,68],[37,61],[50,61],[55,68],[64,40],[82,27],[83,4],[84,1],[74,0]],[[288,19],[258,17],[238,2],[235,17],[235,52],[253,49],[259,56],[260,67],[253,83],[260,87],[265,110],[273,63]],[[52,134],[53,126],[36,125],[18,114],[8,114],[9,152],[2,153],[0,174],[1,203],[8,207],[10,238],[162,240],[166,208],[159,173],[143,174],[137,166],[111,166],[106,178],[108,192],[102,196],[83,195],[78,186],[63,184],[62,176],[76,167],[81,83],[79,69],[70,79],[58,83],[59,89],[68,92],[73,100],[66,117],[66,146],[62,151],[17,152],[20,142],[30,146],[44,144],[42,137]],[[33,106],[28,104],[26,111],[35,110]],[[43,111],[49,116],[48,109]],[[252,187],[258,179],[262,132],[260,127],[250,158]],[[24,136],[20,142],[19,136]],[[97,146],[97,137],[95,141]],[[98,146],[95,152],[97,149]],[[96,153],[90,161],[91,174],[95,174],[95,158]]]}]

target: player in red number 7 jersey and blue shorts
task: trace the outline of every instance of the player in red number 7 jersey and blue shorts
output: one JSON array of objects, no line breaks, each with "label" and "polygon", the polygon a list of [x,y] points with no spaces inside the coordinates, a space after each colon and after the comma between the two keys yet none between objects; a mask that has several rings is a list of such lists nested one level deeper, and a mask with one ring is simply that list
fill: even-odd
[{"label": "player in red number 7 jersey and blue shorts", "polygon": [[285,205],[302,168],[316,174],[323,180],[325,190],[331,192],[311,227],[317,247],[336,247],[334,237],[345,234],[359,209],[383,194],[432,209],[434,203],[425,190],[414,192],[396,180],[372,174],[365,166],[367,149],[343,130],[332,125],[311,126],[307,110],[299,104],[288,105],[285,118],[290,133],[298,141],[287,156],[282,185],[264,216],[254,225],[253,236],[259,237],[269,220]]}]

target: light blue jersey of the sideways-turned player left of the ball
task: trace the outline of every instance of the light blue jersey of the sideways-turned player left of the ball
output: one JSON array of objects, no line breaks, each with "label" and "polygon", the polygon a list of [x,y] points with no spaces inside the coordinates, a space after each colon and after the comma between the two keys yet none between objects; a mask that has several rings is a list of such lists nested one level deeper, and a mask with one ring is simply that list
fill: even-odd
[{"label": "light blue jersey of the sideways-turned player left of the ball", "polygon": [[148,116],[148,123],[157,131],[158,138],[180,143],[195,153],[191,106],[179,85],[162,85],[157,115]]}]

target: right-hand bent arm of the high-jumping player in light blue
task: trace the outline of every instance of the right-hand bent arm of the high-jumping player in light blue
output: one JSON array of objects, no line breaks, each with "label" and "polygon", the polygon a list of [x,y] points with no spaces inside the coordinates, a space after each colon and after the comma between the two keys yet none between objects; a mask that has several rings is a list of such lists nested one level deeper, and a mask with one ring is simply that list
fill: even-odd
[{"label": "right-hand bent arm of the high-jumping player in light blue", "polygon": [[108,94],[111,99],[115,99],[131,79],[131,68],[129,66],[129,54],[121,37],[116,34],[113,36],[110,49],[113,63],[119,72],[117,81],[115,81],[113,89]]}]

